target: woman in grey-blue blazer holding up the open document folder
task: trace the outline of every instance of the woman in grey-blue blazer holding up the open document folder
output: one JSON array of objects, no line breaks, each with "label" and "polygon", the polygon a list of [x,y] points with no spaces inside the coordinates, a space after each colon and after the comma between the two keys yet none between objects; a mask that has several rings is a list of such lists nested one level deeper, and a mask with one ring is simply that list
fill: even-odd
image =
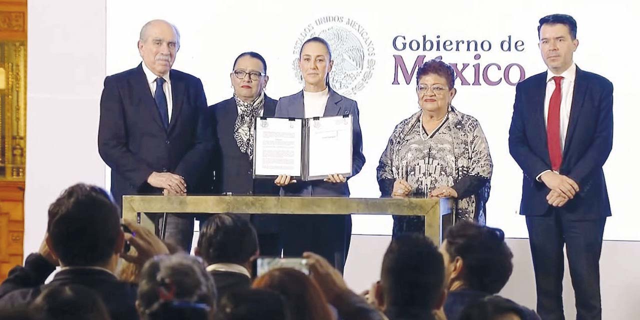
[{"label": "woman in grey-blue blazer holding up the open document folder", "polygon": [[[300,49],[300,71],[305,81],[302,91],[282,97],[276,106],[278,118],[321,118],[351,116],[351,176],[365,163],[362,154],[362,133],[358,122],[358,104],[342,97],[329,86],[329,73],[333,66],[331,49],[323,38],[310,38]],[[347,152],[348,152],[347,151]],[[342,152],[342,151],[341,151]],[[310,152],[312,154],[312,152]],[[324,154],[327,159],[346,155]],[[321,163],[323,159],[309,159]],[[335,172],[324,180],[302,181],[289,175],[279,175],[275,184],[283,196],[349,196],[347,177]],[[284,223],[284,255],[301,256],[305,251],[319,253],[342,271],[351,241],[351,216],[289,215]]]}]

